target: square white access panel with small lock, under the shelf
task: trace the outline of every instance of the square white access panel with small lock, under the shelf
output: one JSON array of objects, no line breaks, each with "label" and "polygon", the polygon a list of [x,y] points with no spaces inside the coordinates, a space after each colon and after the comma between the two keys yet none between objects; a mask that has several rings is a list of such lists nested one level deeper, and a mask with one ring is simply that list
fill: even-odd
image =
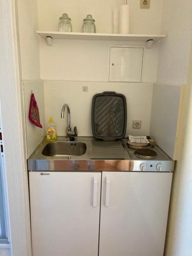
[{"label": "square white access panel with small lock, under the shelf", "polygon": [[141,82],[143,48],[111,47],[109,81]]}]

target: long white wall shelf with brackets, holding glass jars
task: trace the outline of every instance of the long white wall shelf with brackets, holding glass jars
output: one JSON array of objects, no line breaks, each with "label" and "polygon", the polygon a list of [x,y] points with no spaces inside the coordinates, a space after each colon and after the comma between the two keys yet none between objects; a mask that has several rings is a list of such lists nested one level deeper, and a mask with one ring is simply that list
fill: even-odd
[{"label": "long white wall shelf with brackets, holding glass jars", "polygon": [[154,41],[158,41],[166,35],[159,34],[99,34],[99,33],[74,33],[55,31],[36,31],[36,33],[47,39],[48,45],[52,45],[53,39],[73,39],[73,40],[108,40],[108,41],[144,41],[146,48],[151,48]]}]

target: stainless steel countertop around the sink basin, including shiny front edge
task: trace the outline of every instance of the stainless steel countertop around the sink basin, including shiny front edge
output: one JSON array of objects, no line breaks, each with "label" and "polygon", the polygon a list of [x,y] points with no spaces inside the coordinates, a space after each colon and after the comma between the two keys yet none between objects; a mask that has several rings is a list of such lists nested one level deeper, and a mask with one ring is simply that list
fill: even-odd
[{"label": "stainless steel countertop around the sink basin, including shiny front edge", "polygon": [[[66,137],[57,137],[57,141],[68,141]],[[93,137],[76,137],[75,141],[86,143],[87,151],[82,156],[53,156],[48,157],[42,155],[43,148],[50,142],[46,139],[42,141],[36,148],[34,153],[28,159],[28,170],[37,172],[53,172],[53,171],[140,171],[140,164],[147,166],[146,172],[157,172],[156,165],[163,163],[162,172],[173,172],[174,161],[167,156],[165,161],[132,159],[126,148],[126,140],[117,141],[122,143],[124,148],[124,159],[92,159],[91,149],[94,143],[104,145],[104,141],[98,141]],[[124,143],[123,143],[124,142]],[[115,157],[114,157],[115,158]],[[152,165],[153,162],[153,165]],[[151,166],[152,165],[152,166]]]}]

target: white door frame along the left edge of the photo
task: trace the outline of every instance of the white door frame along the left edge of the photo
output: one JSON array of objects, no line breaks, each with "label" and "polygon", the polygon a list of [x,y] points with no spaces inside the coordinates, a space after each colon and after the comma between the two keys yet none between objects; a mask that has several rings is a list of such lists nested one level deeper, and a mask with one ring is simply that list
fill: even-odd
[{"label": "white door frame along the left edge of the photo", "polygon": [[14,0],[0,0],[0,104],[12,256],[31,256],[28,173]]}]

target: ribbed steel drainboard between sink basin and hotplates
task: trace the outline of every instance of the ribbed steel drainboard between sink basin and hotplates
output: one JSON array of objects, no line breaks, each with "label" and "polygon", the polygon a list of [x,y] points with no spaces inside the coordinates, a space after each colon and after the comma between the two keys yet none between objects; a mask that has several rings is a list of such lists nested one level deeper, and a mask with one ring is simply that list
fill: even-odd
[{"label": "ribbed steel drainboard between sink basin and hotplates", "polygon": [[125,159],[125,148],[118,141],[92,141],[91,159]]}]

